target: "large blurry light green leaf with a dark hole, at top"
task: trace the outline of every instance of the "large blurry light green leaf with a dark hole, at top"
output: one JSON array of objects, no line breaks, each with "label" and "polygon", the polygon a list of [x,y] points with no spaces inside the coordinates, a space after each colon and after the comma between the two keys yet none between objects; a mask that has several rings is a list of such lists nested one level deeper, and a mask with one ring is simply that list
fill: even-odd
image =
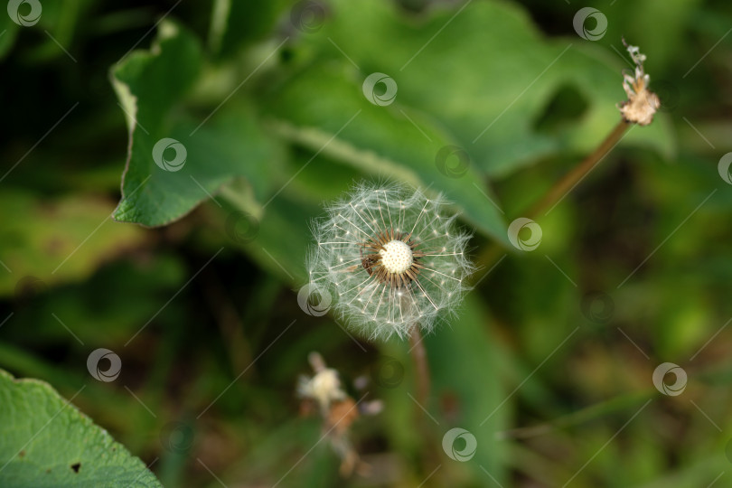
[{"label": "large blurry light green leaf with a dark hole, at top", "polygon": [[[340,62],[360,81],[373,72],[389,75],[399,87],[395,105],[434,117],[493,176],[560,151],[590,151],[615,126],[615,104],[625,99],[621,70],[627,66],[613,52],[578,37],[547,40],[528,14],[505,2],[409,18],[391,2],[333,0],[332,22],[305,42],[305,57]],[[340,110],[339,119],[349,117],[350,108],[331,97],[330,84],[309,88],[308,97],[332,114]],[[540,130],[540,120],[552,116],[551,100],[566,89],[576,94],[573,105],[586,108],[558,131]],[[670,127],[659,119],[624,144],[651,145],[668,155]],[[371,145],[378,151],[378,127],[367,132],[374,131]]]}]

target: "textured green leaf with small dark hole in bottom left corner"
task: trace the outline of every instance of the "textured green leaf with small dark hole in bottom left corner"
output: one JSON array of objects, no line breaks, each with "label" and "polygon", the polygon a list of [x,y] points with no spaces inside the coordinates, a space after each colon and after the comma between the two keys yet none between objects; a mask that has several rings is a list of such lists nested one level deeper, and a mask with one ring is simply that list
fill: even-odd
[{"label": "textured green leaf with small dark hole in bottom left corner", "polygon": [[40,380],[0,370],[0,485],[162,486],[145,464]]}]

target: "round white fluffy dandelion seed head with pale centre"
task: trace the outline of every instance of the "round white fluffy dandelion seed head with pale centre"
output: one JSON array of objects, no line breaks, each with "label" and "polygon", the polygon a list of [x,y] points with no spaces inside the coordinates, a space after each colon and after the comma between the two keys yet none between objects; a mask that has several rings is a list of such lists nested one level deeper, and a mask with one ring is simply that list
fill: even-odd
[{"label": "round white fluffy dandelion seed head with pale centre", "polygon": [[314,223],[310,285],[332,293],[335,311],[354,329],[405,337],[455,313],[473,271],[470,236],[455,230],[441,196],[361,183],[326,210]]}]

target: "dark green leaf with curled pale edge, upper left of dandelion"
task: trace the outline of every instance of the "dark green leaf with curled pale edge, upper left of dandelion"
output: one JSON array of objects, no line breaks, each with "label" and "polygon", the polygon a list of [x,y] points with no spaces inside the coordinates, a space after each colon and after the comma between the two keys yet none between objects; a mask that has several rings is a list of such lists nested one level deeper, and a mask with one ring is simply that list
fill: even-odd
[{"label": "dark green leaf with curled pale edge, upper left of dandelion", "polygon": [[[196,117],[181,105],[201,67],[199,42],[164,22],[150,52],[134,52],[112,70],[130,134],[122,200],[114,214],[118,221],[146,226],[175,221],[236,176],[264,197],[276,151],[258,129],[249,103],[225,99],[221,109],[206,108]],[[155,157],[158,163],[164,157],[180,164],[161,167]]]}]

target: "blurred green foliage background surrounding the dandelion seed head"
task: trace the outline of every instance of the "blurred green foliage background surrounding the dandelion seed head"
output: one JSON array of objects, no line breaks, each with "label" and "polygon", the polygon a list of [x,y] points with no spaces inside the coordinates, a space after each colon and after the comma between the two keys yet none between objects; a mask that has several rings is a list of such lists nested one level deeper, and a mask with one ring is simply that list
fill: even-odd
[{"label": "blurred green foliage background surrounding the dandelion seed head", "polygon": [[[730,6],[591,3],[608,21],[592,42],[574,2],[303,5],[0,12],[0,368],[66,398],[86,385],[73,403],[165,486],[727,485]],[[619,120],[622,37],[662,111],[516,251],[508,224]],[[393,103],[364,97],[373,72]],[[150,157],[162,137],[185,145],[181,171]],[[446,145],[465,173],[440,170]],[[475,233],[484,279],[426,339],[435,422],[408,396],[406,343],[354,343],[297,306],[309,222],[362,178],[444,192]],[[89,375],[100,347],[117,380]],[[299,413],[311,351],[357,399],[382,355],[405,369],[353,427],[371,475],[340,478]],[[653,388],[665,361],[688,372],[678,397]],[[452,427],[477,439],[466,463],[442,452]]]}]

